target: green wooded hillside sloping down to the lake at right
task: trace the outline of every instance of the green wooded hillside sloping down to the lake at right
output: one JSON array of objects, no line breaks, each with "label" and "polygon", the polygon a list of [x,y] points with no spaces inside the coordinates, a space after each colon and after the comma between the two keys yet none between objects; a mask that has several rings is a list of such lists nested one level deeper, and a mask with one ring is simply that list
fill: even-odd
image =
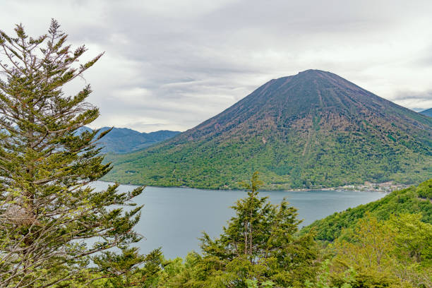
[{"label": "green wooded hillside sloping down to the lake at right", "polygon": [[421,221],[432,224],[432,179],[424,181],[417,187],[409,187],[393,191],[387,196],[356,208],[316,220],[302,229],[302,233],[313,229],[316,239],[332,241],[336,239],[343,228],[351,228],[366,212],[379,220],[388,220],[392,214],[421,213]]}]

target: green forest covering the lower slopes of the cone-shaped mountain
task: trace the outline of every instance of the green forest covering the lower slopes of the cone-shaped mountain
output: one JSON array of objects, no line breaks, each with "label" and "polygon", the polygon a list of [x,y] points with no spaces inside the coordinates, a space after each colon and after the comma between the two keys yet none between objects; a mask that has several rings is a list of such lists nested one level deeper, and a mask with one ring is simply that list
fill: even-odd
[{"label": "green forest covering the lower slopes of the cone-shaped mountain", "polygon": [[121,184],[239,189],[239,181],[259,171],[264,189],[287,190],[365,181],[413,184],[432,174],[432,157],[412,152],[400,142],[390,141],[380,148],[371,145],[377,140],[366,132],[357,136],[340,133],[336,137],[317,132],[311,137],[317,147],[308,155],[302,155],[303,142],[293,140],[287,145],[270,138],[264,144],[262,136],[223,143],[168,143],[126,155],[109,154],[105,161],[113,162],[114,168],[103,179]]}]

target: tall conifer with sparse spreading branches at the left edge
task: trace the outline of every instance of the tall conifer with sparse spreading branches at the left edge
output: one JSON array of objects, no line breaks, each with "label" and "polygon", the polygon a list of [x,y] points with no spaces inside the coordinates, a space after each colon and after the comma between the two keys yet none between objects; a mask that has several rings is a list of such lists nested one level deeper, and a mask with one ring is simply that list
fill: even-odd
[{"label": "tall conifer with sparse spreading branches at the left edge", "polygon": [[133,232],[141,207],[121,206],[133,205],[143,187],[88,186],[111,169],[95,146],[105,133],[78,132],[99,111],[85,102],[90,85],[73,96],[62,91],[103,53],[80,64],[87,49],[66,44],[56,20],[37,38],[23,25],[15,32],[0,31],[0,287],[127,275],[144,260],[128,248],[141,239]]}]

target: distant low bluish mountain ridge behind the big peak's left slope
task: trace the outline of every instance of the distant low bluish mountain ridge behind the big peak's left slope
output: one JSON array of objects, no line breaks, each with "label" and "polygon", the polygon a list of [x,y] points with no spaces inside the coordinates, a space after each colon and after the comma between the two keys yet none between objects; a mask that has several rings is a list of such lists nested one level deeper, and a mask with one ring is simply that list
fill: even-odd
[{"label": "distant low bluish mountain ridge behind the big peak's left slope", "polygon": [[[111,127],[102,127],[100,132],[107,131]],[[91,130],[88,127],[80,128],[80,131]],[[78,133],[80,133],[78,131]],[[167,140],[179,134],[179,131],[160,130],[150,133],[140,133],[129,128],[112,128],[100,141],[102,153],[127,153],[146,148],[155,143]]]}]

